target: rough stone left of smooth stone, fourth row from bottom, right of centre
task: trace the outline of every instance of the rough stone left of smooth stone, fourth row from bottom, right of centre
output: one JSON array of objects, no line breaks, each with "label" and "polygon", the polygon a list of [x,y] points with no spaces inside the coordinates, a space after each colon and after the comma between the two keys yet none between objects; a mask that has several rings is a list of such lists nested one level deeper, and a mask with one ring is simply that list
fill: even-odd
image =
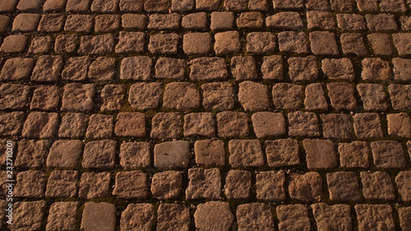
[{"label": "rough stone left of smooth stone, fourth row from bottom, right of centre", "polygon": [[222,137],[248,136],[247,114],[244,112],[219,112],[216,115],[217,129]]}]

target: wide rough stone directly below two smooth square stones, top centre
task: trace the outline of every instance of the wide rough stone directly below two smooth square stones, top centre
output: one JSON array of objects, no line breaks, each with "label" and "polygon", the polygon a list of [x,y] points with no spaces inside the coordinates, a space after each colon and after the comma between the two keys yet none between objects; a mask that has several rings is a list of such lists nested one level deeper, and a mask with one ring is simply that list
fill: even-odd
[{"label": "wide rough stone directly below two smooth square stones, top centre", "polygon": [[188,62],[190,80],[219,80],[228,76],[227,66],[223,58],[201,57]]}]

